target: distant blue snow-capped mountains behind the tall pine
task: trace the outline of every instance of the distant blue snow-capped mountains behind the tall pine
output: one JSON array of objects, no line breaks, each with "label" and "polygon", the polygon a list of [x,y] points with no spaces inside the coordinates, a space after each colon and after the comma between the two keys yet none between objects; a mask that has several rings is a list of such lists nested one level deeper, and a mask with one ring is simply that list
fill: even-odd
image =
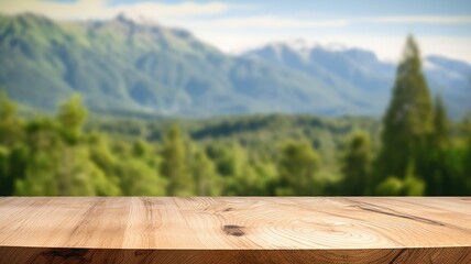
[{"label": "distant blue snow-capped mountains behind the tall pine", "polygon": [[[361,95],[372,102],[371,112],[381,112],[387,105],[396,68],[369,51],[329,48],[300,41],[272,43],[242,56],[303,72],[339,92]],[[441,56],[427,56],[423,64],[429,88],[443,97],[452,117],[471,110],[471,65]]]}]

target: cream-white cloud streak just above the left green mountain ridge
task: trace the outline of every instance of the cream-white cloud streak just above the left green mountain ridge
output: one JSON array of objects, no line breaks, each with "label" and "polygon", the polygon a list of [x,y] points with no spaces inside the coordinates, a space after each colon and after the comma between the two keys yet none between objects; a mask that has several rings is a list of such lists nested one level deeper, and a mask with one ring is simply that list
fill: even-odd
[{"label": "cream-white cloud streak just above the left green mountain ridge", "polygon": [[[74,3],[54,1],[15,0],[0,1],[3,13],[35,12],[59,20],[110,19],[119,13],[129,18],[161,21],[179,26],[211,29],[288,29],[288,28],[337,28],[346,26],[346,20],[299,20],[278,15],[254,15],[210,19],[208,15],[223,14],[229,10],[256,8],[258,6],[229,6],[221,2],[158,3],[138,2],[109,6],[107,0],[79,0]],[[259,7],[260,8],[260,7]]]}]

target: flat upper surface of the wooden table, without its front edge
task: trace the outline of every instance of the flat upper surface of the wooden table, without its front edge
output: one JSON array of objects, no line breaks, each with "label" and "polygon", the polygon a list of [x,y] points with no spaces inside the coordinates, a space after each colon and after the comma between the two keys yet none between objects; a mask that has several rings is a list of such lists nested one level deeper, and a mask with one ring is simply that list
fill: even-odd
[{"label": "flat upper surface of the wooden table, without its front edge", "polygon": [[15,246],[470,250],[471,198],[3,197],[0,248]]}]

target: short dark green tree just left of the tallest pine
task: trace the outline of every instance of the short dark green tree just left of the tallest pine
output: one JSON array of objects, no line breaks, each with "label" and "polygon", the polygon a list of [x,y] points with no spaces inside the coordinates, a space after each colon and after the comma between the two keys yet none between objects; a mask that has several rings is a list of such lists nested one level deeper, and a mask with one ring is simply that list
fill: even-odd
[{"label": "short dark green tree just left of the tallest pine", "polygon": [[350,139],[342,158],[342,195],[366,195],[370,175],[370,140],[365,133],[355,133]]}]

